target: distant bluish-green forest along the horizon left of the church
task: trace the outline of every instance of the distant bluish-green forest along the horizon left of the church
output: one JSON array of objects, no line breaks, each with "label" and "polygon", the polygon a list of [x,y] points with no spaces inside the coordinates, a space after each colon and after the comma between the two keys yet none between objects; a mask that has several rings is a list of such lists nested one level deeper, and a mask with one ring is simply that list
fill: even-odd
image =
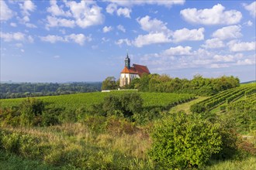
[{"label": "distant bluish-green forest along the horizon left of the church", "polygon": [[54,96],[100,91],[102,83],[1,83],[0,98]]}]

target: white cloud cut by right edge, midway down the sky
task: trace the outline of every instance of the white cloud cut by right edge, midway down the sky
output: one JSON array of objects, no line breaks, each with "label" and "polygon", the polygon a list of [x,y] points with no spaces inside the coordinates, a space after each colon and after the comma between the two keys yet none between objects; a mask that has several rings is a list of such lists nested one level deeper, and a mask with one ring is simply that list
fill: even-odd
[{"label": "white cloud cut by right edge, midway down the sky", "polygon": [[230,47],[230,51],[232,52],[241,52],[241,51],[252,51],[255,50],[255,42],[237,42],[237,41],[230,41],[227,43]]}]

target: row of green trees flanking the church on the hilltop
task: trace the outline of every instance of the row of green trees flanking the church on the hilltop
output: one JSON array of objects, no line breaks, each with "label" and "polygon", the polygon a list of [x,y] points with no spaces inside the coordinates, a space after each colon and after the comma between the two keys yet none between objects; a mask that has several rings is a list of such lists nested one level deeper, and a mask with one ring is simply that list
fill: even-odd
[{"label": "row of green trees flanking the church on the hilltop", "polygon": [[[133,80],[124,89],[137,89],[143,92],[159,93],[194,93],[211,96],[220,91],[240,86],[240,80],[234,76],[205,78],[195,75],[192,80],[172,78],[168,75],[144,74],[140,79]],[[102,90],[113,90],[119,87],[119,80],[109,76],[102,82]]]}]

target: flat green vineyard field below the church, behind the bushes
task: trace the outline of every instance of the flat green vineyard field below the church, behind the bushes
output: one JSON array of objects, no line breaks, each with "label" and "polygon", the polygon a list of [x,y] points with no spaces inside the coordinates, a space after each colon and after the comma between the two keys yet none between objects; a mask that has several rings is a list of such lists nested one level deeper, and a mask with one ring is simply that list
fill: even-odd
[{"label": "flat green vineyard field below the church, behind the bushes", "polygon": [[[110,92],[110,93],[76,93],[51,97],[36,97],[49,104],[50,107],[64,107],[67,110],[76,110],[81,107],[89,107],[92,104],[99,104],[104,97],[109,95],[119,95],[130,92]],[[140,93],[144,100],[143,107],[171,107],[195,99],[195,96],[187,93]],[[0,100],[1,108],[16,107],[22,103],[24,98]]]}]

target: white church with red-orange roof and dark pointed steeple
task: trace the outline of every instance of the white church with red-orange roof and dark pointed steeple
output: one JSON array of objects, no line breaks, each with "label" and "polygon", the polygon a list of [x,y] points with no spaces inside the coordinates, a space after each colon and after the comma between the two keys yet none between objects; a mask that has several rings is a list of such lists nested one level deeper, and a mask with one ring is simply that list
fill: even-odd
[{"label": "white church with red-orange roof and dark pointed steeple", "polygon": [[128,56],[128,53],[124,61],[125,66],[120,76],[120,87],[124,87],[130,84],[130,82],[133,79],[140,78],[140,76],[142,76],[142,74],[144,73],[150,74],[150,71],[148,70],[147,66],[142,66],[139,64],[133,64],[133,66],[130,66],[130,58]]}]

